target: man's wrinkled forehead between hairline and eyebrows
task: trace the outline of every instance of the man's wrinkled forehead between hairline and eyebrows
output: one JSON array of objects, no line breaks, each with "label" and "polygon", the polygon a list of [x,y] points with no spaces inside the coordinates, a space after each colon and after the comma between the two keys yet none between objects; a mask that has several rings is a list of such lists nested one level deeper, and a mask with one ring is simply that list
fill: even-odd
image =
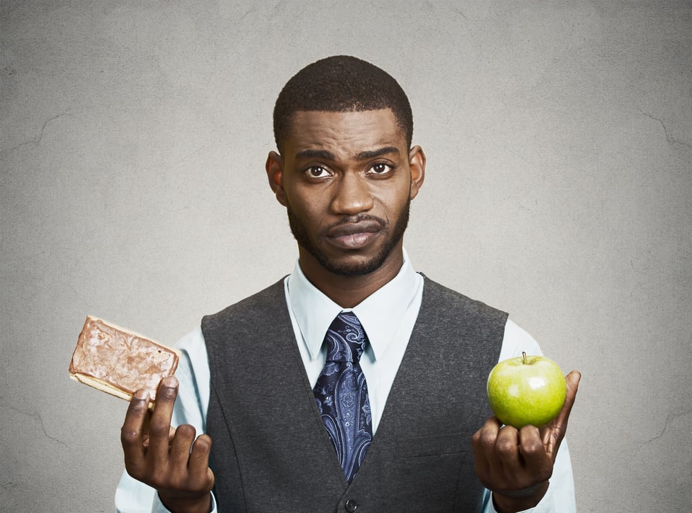
[{"label": "man's wrinkled forehead between hairline and eyebrows", "polygon": [[394,146],[406,150],[406,136],[392,109],[358,112],[297,111],[291,118],[286,150],[328,149],[335,154]]}]

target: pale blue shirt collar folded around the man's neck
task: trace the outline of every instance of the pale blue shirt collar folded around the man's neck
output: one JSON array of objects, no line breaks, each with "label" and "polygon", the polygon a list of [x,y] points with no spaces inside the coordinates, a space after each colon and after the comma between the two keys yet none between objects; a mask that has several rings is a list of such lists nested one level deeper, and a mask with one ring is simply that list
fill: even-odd
[{"label": "pale blue shirt collar folded around the man's neck", "polygon": [[310,359],[318,357],[331,321],[334,321],[339,312],[349,310],[361,321],[374,358],[381,357],[414,300],[418,287],[422,287],[422,280],[419,278],[404,251],[403,264],[397,276],[352,309],[344,309],[312,285],[302,273],[300,262],[296,261],[288,282],[289,307],[298,323]]}]

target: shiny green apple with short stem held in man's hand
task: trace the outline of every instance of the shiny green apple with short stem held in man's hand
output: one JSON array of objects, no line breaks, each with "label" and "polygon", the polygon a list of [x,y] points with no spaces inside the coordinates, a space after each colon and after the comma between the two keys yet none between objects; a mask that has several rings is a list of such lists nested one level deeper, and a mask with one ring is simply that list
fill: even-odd
[{"label": "shiny green apple with short stem held in man's hand", "polygon": [[544,426],[565,404],[567,384],[557,363],[545,357],[510,358],[488,376],[488,402],[502,424]]}]

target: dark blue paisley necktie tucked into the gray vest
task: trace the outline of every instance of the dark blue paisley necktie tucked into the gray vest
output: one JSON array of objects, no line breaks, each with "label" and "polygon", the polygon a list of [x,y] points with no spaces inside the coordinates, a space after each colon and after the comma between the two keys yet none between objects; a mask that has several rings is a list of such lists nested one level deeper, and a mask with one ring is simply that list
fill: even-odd
[{"label": "dark blue paisley necktie tucked into the gray vest", "polygon": [[352,312],[341,312],[325,336],[327,363],[314,388],[341,468],[350,483],[372,441],[372,415],[367,384],[361,370],[361,354],[367,336]]}]

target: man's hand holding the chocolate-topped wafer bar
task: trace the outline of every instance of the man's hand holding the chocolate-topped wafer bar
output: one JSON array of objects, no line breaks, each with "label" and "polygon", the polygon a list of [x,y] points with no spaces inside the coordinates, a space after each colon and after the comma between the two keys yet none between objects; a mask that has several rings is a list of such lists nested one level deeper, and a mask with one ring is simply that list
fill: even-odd
[{"label": "man's hand holding the chocolate-topped wafer bar", "polygon": [[[120,442],[127,473],[158,491],[161,502],[174,513],[210,511],[214,474],[209,468],[212,440],[189,424],[171,427],[178,380],[167,377],[156,393],[149,413],[149,393],[137,390],[127,408]],[[191,449],[192,448],[192,449]]]}]

